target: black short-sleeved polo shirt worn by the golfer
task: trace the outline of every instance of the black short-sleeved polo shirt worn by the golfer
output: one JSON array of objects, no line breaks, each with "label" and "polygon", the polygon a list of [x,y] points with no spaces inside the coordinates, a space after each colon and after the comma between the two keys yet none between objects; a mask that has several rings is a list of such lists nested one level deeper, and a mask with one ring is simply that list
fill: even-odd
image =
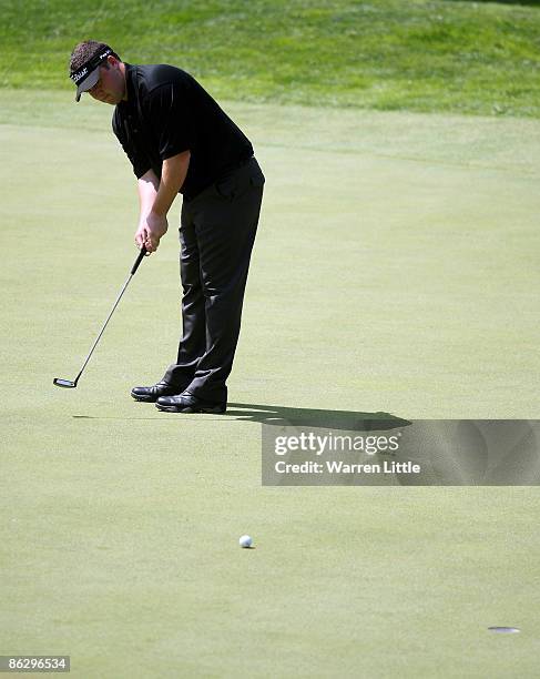
[{"label": "black short-sleeved polo shirt worn by the golfer", "polygon": [[139,179],[162,163],[191,152],[180,192],[191,200],[227,170],[253,155],[249,140],[212,97],[175,67],[125,64],[128,101],[113,113],[112,128]]}]

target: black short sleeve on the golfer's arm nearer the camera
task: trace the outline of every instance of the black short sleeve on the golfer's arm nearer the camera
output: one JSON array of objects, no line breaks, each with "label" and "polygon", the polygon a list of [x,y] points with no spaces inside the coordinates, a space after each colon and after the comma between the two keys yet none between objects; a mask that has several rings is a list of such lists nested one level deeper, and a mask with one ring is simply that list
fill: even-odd
[{"label": "black short sleeve on the golfer's arm nearer the camera", "polygon": [[151,93],[150,125],[162,161],[194,146],[189,83],[171,82]]}]

